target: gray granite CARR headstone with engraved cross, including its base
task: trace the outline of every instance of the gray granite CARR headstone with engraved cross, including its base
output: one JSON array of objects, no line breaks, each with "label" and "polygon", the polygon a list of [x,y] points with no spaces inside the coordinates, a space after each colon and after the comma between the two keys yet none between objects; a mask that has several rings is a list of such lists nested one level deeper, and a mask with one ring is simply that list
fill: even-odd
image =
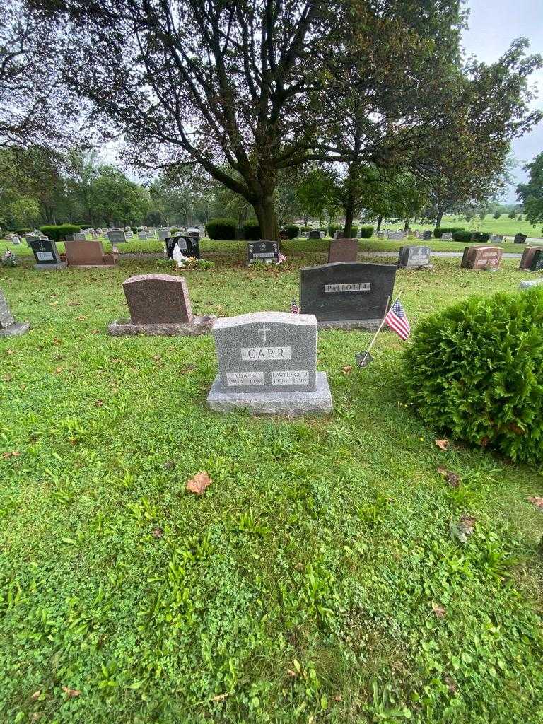
[{"label": "gray granite CARR headstone with engraved cross, including its base", "polygon": [[312,314],[255,312],[214,324],[219,374],[208,397],[216,411],[249,408],[295,416],[332,409],[327,376],[316,372]]}]

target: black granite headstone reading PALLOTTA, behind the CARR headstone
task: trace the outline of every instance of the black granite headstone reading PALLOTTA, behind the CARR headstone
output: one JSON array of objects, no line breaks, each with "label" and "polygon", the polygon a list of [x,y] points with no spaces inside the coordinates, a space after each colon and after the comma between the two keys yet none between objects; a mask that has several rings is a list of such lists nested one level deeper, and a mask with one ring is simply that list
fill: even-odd
[{"label": "black granite headstone reading PALLOTTA, behind the CARR headstone", "polygon": [[300,306],[319,327],[376,329],[394,292],[395,264],[344,262],[300,269]]}]

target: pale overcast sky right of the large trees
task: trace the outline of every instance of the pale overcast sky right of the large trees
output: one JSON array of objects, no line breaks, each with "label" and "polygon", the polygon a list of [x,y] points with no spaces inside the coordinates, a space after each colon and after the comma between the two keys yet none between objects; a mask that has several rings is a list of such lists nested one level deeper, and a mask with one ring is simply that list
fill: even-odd
[{"label": "pale overcast sky right of the large trees", "polygon": [[[543,55],[543,0],[467,0],[470,9],[469,30],[463,35],[468,55],[491,63],[497,60],[514,38],[528,38],[531,52]],[[543,108],[543,70],[534,73],[538,86],[534,108]],[[499,103],[500,99],[496,98]],[[513,153],[518,160],[514,174],[524,179],[521,167],[543,151],[543,122],[513,141]],[[508,191],[507,201],[516,201],[514,187]]]}]

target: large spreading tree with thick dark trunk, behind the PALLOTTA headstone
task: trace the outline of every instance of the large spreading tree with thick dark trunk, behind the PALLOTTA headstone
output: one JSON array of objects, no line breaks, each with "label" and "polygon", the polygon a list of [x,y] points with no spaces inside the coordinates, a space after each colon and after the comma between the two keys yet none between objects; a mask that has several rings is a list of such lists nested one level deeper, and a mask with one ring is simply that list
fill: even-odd
[{"label": "large spreading tree with thick dark trunk, behind the PALLOTTA headstone", "polygon": [[197,162],[269,238],[282,169],[397,167],[445,125],[458,72],[459,0],[33,2],[72,23],[67,80],[135,158]]}]

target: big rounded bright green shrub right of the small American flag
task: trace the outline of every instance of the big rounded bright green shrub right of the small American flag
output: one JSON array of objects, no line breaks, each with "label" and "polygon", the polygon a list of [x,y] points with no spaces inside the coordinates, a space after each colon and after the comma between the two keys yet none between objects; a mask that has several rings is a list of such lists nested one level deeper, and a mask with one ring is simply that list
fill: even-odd
[{"label": "big rounded bright green shrub right of the small American flag", "polygon": [[470,297],[424,319],[405,352],[408,399],[439,434],[543,460],[543,289]]}]

